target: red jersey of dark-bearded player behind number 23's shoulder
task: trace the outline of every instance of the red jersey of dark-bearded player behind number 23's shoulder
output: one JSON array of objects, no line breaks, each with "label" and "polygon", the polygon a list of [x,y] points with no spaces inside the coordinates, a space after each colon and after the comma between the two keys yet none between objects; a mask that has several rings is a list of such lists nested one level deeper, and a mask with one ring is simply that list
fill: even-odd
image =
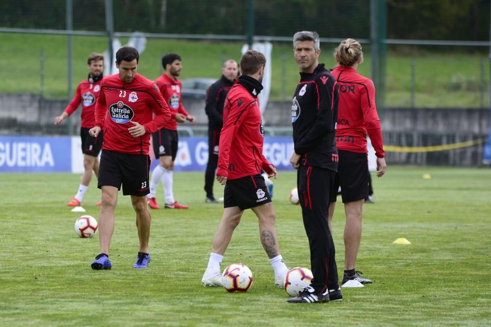
[{"label": "red jersey of dark-bearded player behind number 23's shoulder", "polygon": [[184,109],[181,98],[181,81],[176,77],[170,78],[168,75],[162,74],[155,80],[155,84],[157,84],[165,102],[167,102],[167,106],[169,107],[172,116],[172,119],[165,123],[164,128],[177,130],[177,121],[174,119],[176,114],[180,113],[189,116],[188,112]]}]

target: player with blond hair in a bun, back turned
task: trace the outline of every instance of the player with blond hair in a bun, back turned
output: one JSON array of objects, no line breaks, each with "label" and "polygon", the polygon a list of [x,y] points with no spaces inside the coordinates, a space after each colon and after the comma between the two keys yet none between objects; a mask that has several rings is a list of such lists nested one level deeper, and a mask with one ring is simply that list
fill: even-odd
[{"label": "player with blond hair in a bun, back turned", "polygon": [[[366,135],[372,142],[377,156],[377,177],[385,174],[385,153],[382,145],[382,129],[375,106],[375,88],[372,80],[356,73],[363,62],[363,51],[358,41],[346,39],[336,48],[334,56],[338,66],[332,71],[339,85],[339,113],[336,130],[336,146],[339,166],[334,186],[341,186],[346,225],[344,228],[344,275],[342,284],[354,279],[362,284],[372,280],[360,276],[355,270],[356,256],[361,239],[363,203],[369,195]],[[335,195],[329,205],[329,226],[336,205]]]}]

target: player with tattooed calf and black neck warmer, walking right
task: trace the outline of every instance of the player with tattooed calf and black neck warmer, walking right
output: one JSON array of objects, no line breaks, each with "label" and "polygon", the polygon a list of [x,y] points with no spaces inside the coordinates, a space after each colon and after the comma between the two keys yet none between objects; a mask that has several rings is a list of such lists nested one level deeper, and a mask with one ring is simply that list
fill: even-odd
[{"label": "player with tattooed calf and black neck warmer, walking right", "polygon": [[201,279],[205,286],[221,286],[220,264],[235,227],[246,209],[252,209],[259,222],[261,244],[274,270],[274,283],[283,286],[288,272],[279,252],[275,214],[271,197],[261,176],[263,168],[269,177],[276,169],[263,155],[264,129],[257,96],[263,89],[266,57],[248,50],[241,58],[242,76],[228,92],[223,107],[223,127],[218,149],[217,180],[225,185],[224,209],[218,230],[213,237],[208,267]]}]

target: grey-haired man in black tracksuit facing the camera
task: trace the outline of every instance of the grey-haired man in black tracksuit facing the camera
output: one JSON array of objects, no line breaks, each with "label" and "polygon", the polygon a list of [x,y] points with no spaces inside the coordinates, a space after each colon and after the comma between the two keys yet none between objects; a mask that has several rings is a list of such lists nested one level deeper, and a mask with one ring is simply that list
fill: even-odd
[{"label": "grey-haired man in black tracksuit facing the camera", "polygon": [[314,278],[298,297],[287,302],[340,301],[334,242],[327,224],[329,198],[337,169],[336,120],[338,87],[319,63],[319,34],[301,31],[293,36],[293,53],[300,82],[292,100],[294,152],[303,226],[310,246]]}]

